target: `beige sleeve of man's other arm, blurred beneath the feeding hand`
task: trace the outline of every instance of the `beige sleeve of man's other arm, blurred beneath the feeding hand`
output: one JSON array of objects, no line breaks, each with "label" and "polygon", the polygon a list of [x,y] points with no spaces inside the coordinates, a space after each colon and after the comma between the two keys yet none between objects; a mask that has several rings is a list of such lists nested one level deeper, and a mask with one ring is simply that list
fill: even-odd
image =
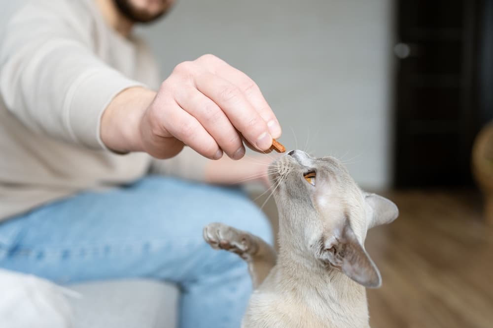
[{"label": "beige sleeve of man's other arm, blurred beneath the feeding hand", "polygon": [[210,159],[189,147],[185,147],[173,158],[153,158],[150,172],[183,179],[205,181],[206,166],[210,162]]}]

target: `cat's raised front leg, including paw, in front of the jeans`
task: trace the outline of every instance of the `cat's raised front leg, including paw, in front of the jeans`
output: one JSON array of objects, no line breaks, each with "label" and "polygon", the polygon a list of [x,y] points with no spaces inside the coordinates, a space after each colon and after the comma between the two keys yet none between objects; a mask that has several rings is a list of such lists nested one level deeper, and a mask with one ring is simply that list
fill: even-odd
[{"label": "cat's raised front leg, including paw, in front of the jeans", "polygon": [[238,254],[248,263],[248,271],[256,289],[276,265],[276,251],[263,239],[222,223],[204,228],[204,239],[215,249]]}]

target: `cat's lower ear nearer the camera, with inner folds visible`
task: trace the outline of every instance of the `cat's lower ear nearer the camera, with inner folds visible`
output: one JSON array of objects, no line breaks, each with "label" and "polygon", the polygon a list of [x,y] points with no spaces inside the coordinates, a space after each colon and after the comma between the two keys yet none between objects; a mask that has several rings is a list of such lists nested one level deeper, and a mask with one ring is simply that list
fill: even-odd
[{"label": "cat's lower ear nearer the camera, with inner folds visible", "polygon": [[368,288],[378,288],[382,284],[380,271],[359,243],[349,221],[345,223],[341,235],[332,244],[323,247],[319,257],[358,284]]}]

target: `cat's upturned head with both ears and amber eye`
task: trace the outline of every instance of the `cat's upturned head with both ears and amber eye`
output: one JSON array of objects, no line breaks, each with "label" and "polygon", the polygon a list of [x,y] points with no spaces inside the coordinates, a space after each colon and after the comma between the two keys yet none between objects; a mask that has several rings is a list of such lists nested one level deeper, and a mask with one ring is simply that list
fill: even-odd
[{"label": "cat's upturned head with both ears and amber eye", "polygon": [[292,244],[319,265],[365,287],[379,287],[380,272],[363,245],[368,229],[398,216],[395,204],[362,191],[333,157],[293,150],[273,165],[269,179],[283,218],[280,233],[288,233]]}]

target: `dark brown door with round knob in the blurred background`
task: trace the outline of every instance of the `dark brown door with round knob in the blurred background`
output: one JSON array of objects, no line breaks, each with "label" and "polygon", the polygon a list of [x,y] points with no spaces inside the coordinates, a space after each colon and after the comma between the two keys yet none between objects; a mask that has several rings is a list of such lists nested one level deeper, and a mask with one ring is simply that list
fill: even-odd
[{"label": "dark brown door with round knob in the blurred background", "polygon": [[395,186],[469,185],[476,1],[397,3]]}]

